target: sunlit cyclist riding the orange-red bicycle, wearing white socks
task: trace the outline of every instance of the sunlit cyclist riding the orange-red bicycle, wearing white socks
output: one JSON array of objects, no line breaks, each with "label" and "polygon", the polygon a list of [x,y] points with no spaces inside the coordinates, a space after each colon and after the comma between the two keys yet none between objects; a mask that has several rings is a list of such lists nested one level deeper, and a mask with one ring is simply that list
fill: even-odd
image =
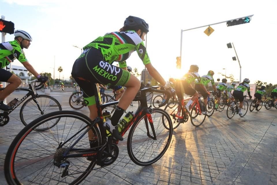
[{"label": "sunlit cyclist riding the orange-red bicycle, wearing white socks", "polygon": [[198,92],[194,90],[192,83],[195,79],[197,79],[199,83],[202,82],[201,77],[198,74],[198,70],[199,67],[197,65],[191,65],[188,73],[186,73],[181,79],[176,80],[175,90],[178,100],[181,101],[184,99],[184,93],[192,96],[185,106],[188,112],[190,112],[189,106],[198,97]]}]

